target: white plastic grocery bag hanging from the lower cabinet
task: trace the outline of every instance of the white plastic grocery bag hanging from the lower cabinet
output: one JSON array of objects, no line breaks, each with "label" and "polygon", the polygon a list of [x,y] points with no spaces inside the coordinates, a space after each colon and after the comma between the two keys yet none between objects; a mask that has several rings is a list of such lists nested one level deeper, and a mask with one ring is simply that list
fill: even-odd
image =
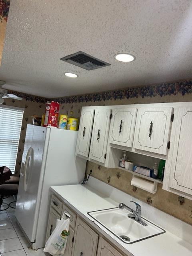
[{"label": "white plastic grocery bag hanging from the lower cabinet", "polygon": [[44,252],[49,252],[53,256],[63,255],[65,252],[67,238],[69,236],[69,224],[70,224],[70,216],[66,218],[66,214],[64,212],[61,220],[57,220],[57,225],[49,239],[47,240],[44,248]]}]

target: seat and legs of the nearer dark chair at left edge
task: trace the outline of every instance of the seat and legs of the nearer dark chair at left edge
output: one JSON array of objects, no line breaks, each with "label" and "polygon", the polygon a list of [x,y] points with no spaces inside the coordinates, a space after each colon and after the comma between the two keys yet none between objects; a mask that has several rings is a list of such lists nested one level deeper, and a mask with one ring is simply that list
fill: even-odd
[{"label": "seat and legs of the nearer dark chair at left edge", "polygon": [[[1,211],[1,206],[3,204],[4,196],[17,195],[18,187],[19,187],[18,184],[2,184],[2,185],[0,185],[0,211]],[[14,207],[10,206],[10,204],[7,204],[8,207],[6,209],[8,209],[9,207],[14,208]],[[6,210],[6,209],[4,209],[4,210]]]}]

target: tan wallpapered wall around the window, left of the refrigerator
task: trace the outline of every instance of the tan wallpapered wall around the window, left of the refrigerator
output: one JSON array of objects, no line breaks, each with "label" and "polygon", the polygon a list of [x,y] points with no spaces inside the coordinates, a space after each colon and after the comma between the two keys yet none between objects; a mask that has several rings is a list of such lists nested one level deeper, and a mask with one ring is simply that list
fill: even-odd
[{"label": "tan wallpapered wall around the window, left of the refrigerator", "polygon": [[33,102],[30,100],[11,100],[11,99],[5,99],[4,104],[7,106],[14,106],[19,108],[24,108],[24,116],[23,116],[23,122],[22,122],[22,130],[20,135],[20,141],[19,141],[19,147],[18,147],[18,155],[16,160],[16,172],[20,173],[20,164],[22,160],[22,154],[23,154],[23,148],[24,148],[24,142],[25,142],[25,134],[26,134],[26,126],[28,123],[32,124],[32,118],[30,116],[35,115],[42,115],[45,112],[45,104],[44,103],[38,103]]}]

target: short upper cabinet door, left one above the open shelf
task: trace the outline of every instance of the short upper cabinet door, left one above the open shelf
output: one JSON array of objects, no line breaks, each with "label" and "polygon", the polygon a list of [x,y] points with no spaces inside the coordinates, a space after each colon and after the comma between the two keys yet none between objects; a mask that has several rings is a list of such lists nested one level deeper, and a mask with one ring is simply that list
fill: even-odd
[{"label": "short upper cabinet door, left one above the open shelf", "polygon": [[112,110],[110,143],[132,147],[136,108],[117,108]]}]

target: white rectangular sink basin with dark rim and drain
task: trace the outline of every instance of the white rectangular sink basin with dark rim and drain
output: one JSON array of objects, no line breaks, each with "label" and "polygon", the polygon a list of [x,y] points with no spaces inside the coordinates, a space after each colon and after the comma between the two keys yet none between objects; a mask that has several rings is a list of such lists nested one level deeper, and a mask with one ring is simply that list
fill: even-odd
[{"label": "white rectangular sink basin with dark rim and drain", "polygon": [[112,208],[88,212],[88,215],[126,244],[132,244],[165,233],[165,230],[144,218],[142,220],[147,226],[128,218],[129,213],[130,211],[126,209]]}]

